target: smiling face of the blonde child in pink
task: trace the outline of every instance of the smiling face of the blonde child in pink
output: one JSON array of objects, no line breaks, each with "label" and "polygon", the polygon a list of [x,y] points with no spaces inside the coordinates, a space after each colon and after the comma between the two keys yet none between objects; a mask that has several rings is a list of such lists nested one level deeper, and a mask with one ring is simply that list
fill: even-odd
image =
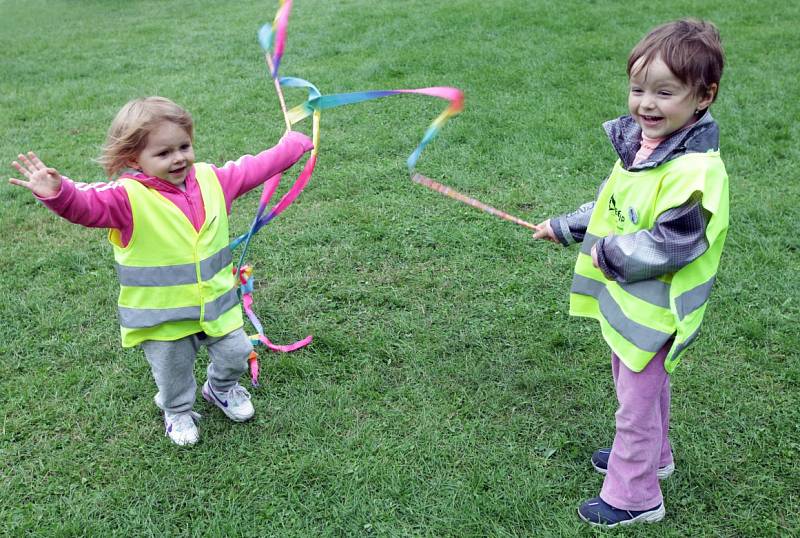
[{"label": "smiling face of the blonde child in pink", "polygon": [[147,135],[147,144],[131,162],[148,176],[159,177],[175,186],[182,185],[194,164],[194,148],[189,133],[171,121],[158,123]]}]

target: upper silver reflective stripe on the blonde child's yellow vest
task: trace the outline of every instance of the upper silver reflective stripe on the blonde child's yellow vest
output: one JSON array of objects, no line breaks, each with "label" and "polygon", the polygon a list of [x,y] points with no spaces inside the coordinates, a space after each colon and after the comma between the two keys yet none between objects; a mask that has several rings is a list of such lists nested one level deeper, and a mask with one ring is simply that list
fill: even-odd
[{"label": "upper silver reflective stripe on the blonde child's yellow vest", "polygon": [[[231,261],[231,250],[225,247],[200,262],[200,277],[204,281],[211,280],[214,275],[227,267]],[[197,274],[193,263],[158,267],[117,264],[117,276],[122,286],[164,287],[197,283]]]}]

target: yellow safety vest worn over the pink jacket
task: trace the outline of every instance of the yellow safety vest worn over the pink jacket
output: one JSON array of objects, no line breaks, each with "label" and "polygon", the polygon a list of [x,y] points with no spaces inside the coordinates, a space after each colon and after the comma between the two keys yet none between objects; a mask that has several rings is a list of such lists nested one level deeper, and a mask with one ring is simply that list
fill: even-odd
[{"label": "yellow safety vest worn over the pink jacket", "polygon": [[219,180],[195,164],[205,223],[198,232],[186,215],[157,190],[122,179],[133,215],[133,235],[114,246],[120,282],[122,345],[177,340],[200,331],[222,336],[243,325],[228,248],[228,215]]}]

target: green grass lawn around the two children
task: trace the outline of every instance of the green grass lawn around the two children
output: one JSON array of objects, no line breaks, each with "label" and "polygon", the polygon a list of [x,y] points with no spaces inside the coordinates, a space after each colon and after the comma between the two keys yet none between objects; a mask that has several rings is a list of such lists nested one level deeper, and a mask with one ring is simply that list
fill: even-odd
[{"label": "green grass lawn around the two children", "polygon": [[[408,180],[442,101],[323,113],[312,182],[250,251],[268,335],[314,343],[260,348],[250,423],[199,399],[192,449],[163,436],[144,356],[119,344],[105,231],[7,184],[27,150],[103,180],[106,129],[142,95],[192,112],[198,160],[271,146],[284,125],[255,36],[276,8],[0,0],[0,534],[594,535],[575,511],[599,491],[588,459],[616,405],[597,324],[567,315],[577,250]],[[667,517],[625,535],[798,535],[798,4],[296,0],[281,73],[323,93],[462,88],[419,170],[539,222],[592,198],[629,50],[687,15],[726,47],[713,114],[731,230],[673,376]],[[234,206],[234,233],[257,200]]]}]

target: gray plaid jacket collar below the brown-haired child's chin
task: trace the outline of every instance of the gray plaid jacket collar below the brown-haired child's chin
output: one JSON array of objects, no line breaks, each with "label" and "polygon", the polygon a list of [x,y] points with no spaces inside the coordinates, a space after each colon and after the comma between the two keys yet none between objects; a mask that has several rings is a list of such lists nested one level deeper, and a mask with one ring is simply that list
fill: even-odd
[{"label": "gray plaid jacket collar below the brown-haired child's chin", "polygon": [[603,129],[625,170],[646,170],[687,153],[719,150],[719,126],[708,110],[688,129],[675,131],[658,145],[646,161],[636,166],[633,166],[633,160],[642,141],[642,129],[636,121],[631,116],[621,116],[605,122]]}]

